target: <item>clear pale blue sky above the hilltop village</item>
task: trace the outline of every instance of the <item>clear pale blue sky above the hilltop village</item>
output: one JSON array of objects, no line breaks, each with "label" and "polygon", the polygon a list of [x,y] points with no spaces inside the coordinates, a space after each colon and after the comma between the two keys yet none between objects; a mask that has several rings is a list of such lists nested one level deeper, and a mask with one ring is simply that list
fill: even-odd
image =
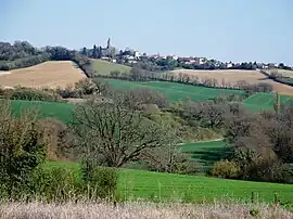
[{"label": "clear pale blue sky above the hilltop village", "polygon": [[292,0],[0,0],[0,41],[293,65]]}]

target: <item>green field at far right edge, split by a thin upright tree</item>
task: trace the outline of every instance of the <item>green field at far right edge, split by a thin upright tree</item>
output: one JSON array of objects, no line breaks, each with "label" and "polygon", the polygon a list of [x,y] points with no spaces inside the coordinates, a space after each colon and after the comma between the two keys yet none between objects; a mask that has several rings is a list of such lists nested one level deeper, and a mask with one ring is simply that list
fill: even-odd
[{"label": "green field at far right edge, split by a thin upright tree", "polygon": [[[259,111],[272,111],[273,110],[273,101],[276,94],[272,93],[256,93],[243,102],[243,105],[253,112]],[[281,102],[285,103],[289,100],[293,100],[291,95],[281,95]]]}]

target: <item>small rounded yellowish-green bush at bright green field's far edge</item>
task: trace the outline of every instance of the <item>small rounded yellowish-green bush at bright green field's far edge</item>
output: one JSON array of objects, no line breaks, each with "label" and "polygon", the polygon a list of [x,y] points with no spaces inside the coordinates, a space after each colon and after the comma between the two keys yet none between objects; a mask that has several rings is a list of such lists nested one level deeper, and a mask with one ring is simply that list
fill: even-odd
[{"label": "small rounded yellowish-green bush at bright green field's far edge", "polygon": [[239,175],[240,168],[237,163],[228,159],[216,162],[212,169],[212,176],[218,178],[235,179]]}]

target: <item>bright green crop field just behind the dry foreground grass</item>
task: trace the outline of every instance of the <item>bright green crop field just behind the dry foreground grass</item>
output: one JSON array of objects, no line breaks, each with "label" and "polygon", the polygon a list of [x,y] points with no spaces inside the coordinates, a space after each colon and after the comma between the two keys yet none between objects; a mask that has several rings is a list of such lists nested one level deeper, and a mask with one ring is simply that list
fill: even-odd
[{"label": "bright green crop field just behind the dry foreground grass", "polygon": [[[80,176],[77,163],[47,163],[46,167],[62,166]],[[275,194],[281,202],[293,202],[293,184],[277,184],[226,180],[199,176],[183,176],[120,169],[118,192],[125,198],[213,201],[214,198],[235,198],[249,201],[252,192],[259,202],[273,202]]]}]

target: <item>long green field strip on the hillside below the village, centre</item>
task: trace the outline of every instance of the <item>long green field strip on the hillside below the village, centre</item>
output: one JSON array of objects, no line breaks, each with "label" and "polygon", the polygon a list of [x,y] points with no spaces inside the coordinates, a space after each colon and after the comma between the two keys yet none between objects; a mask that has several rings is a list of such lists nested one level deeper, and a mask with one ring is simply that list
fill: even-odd
[{"label": "long green field strip on the hillside below the village, centre", "polygon": [[138,87],[151,88],[163,93],[169,101],[188,99],[191,99],[192,101],[208,101],[219,94],[243,93],[243,91],[240,90],[204,88],[165,81],[137,82],[118,79],[104,79],[104,81],[117,89],[133,89]]}]

